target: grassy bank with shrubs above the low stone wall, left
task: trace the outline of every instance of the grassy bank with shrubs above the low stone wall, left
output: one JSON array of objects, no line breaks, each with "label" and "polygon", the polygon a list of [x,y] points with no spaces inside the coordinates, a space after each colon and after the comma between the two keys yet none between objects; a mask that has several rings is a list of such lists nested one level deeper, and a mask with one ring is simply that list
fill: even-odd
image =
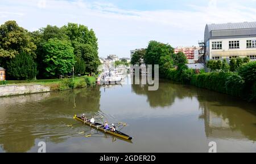
[{"label": "grassy bank with shrubs above the low stone wall, left", "polygon": [[85,88],[90,85],[96,84],[96,77],[82,76],[75,77],[74,80],[70,79],[43,79],[43,80],[10,80],[1,81],[0,85],[27,85],[27,84],[41,84],[46,85],[52,91],[54,90],[68,90],[75,88]]}]

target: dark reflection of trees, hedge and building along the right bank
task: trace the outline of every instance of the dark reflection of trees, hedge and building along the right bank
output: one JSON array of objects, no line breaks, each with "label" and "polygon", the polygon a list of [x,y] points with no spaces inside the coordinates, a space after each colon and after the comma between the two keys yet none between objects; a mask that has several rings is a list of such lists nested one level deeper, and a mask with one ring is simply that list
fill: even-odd
[{"label": "dark reflection of trees, hedge and building along the right bank", "polygon": [[256,140],[255,103],[168,80],[159,82],[159,89],[156,91],[148,91],[148,85],[135,84],[132,85],[132,91],[147,96],[151,107],[171,106],[175,98],[195,97],[203,112],[199,118],[205,121],[205,133],[208,137],[237,137],[239,139],[246,136],[249,140]]}]

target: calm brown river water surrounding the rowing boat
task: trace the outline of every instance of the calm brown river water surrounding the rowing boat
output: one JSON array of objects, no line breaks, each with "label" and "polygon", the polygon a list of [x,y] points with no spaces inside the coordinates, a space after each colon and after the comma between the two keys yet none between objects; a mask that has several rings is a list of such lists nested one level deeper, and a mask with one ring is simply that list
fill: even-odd
[{"label": "calm brown river water surrounding the rowing boat", "polygon": [[[121,131],[134,139],[72,118],[82,113],[125,122]],[[47,152],[208,152],[210,141],[217,152],[256,152],[256,105],[171,81],[157,91],[113,85],[0,98],[0,152],[37,152],[40,141]]]}]

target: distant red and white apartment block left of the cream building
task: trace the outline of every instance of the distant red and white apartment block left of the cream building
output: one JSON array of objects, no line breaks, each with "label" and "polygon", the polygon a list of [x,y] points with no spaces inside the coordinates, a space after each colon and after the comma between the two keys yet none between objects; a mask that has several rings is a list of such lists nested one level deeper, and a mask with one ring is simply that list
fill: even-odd
[{"label": "distant red and white apartment block left of the cream building", "polygon": [[186,55],[188,63],[196,63],[199,59],[199,49],[196,46],[192,47],[177,47],[174,49],[174,53],[182,52]]}]

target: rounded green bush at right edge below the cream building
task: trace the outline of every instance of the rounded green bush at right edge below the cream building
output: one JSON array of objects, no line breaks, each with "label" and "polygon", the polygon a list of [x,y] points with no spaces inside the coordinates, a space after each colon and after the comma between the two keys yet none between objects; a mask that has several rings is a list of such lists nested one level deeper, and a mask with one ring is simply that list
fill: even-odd
[{"label": "rounded green bush at right edge below the cream building", "polygon": [[239,70],[238,74],[241,75],[247,82],[256,81],[256,61],[243,64]]}]

